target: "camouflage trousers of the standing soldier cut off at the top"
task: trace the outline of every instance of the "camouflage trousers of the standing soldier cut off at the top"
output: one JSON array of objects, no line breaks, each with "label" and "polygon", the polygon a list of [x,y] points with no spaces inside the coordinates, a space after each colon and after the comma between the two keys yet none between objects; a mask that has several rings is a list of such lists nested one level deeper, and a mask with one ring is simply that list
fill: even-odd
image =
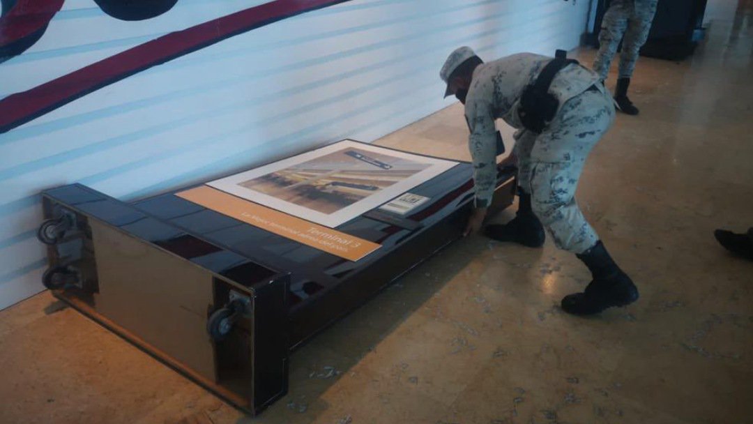
[{"label": "camouflage trousers of the standing soldier cut off at the top", "polygon": [[[622,40],[618,78],[630,78],[636,69],[638,53],[648,38],[651,22],[657,11],[658,0],[613,0],[602,19],[599,32],[599,52],[593,61],[593,70],[602,81],[607,78],[609,66]],[[623,39],[624,35],[624,39]]]}]

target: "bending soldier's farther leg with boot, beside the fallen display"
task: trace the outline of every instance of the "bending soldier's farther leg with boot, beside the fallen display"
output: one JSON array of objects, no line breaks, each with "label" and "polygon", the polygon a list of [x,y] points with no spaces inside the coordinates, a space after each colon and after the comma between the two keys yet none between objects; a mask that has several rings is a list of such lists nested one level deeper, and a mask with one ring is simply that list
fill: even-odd
[{"label": "bending soldier's farther leg with boot, beside the fallen display", "polygon": [[518,210],[507,224],[491,224],[486,236],[501,242],[519,243],[528,247],[544,245],[544,226],[534,215],[531,206],[531,151],[537,134],[523,130],[516,133],[513,154],[517,157]]}]

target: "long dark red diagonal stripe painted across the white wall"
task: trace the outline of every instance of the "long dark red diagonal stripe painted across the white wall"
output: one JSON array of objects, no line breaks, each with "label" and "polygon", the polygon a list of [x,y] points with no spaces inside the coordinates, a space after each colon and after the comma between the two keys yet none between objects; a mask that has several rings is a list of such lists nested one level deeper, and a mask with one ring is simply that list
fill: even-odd
[{"label": "long dark red diagonal stripe painted across the white wall", "polygon": [[31,90],[0,100],[0,133],[6,133],[35,117],[130,75],[225,38],[343,2],[349,0],[276,0],[155,38]]}]

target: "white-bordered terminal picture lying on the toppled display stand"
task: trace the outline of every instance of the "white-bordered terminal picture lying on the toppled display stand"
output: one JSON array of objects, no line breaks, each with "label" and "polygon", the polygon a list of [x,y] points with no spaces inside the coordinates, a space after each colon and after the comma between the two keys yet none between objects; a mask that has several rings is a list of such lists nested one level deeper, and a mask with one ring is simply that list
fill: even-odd
[{"label": "white-bordered terminal picture lying on the toppled display stand", "polygon": [[344,140],[207,185],[334,228],[456,164]]}]

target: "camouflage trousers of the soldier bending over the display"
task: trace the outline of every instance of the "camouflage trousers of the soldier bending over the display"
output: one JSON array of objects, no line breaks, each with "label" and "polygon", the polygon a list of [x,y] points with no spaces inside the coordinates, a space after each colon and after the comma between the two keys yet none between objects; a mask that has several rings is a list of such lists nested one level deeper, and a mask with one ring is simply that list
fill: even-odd
[{"label": "camouflage trousers of the soldier bending over the display", "polygon": [[531,194],[532,209],[559,249],[576,254],[599,236],[575,202],[586,158],[614,122],[614,103],[603,87],[569,99],[541,134],[515,135],[518,184]]}]

